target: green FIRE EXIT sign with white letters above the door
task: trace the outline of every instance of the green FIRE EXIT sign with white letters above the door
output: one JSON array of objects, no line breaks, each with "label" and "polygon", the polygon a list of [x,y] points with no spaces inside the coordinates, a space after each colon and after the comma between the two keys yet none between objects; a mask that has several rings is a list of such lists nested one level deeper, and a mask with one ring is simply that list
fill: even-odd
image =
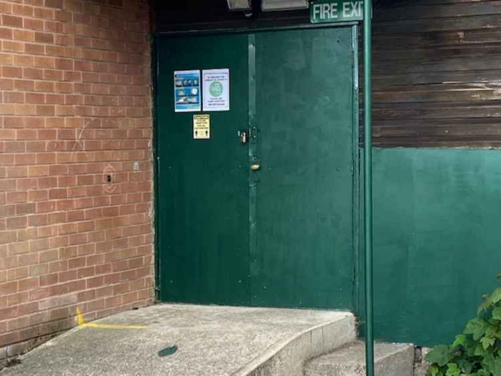
[{"label": "green FIRE EXIT sign with white letters above the door", "polygon": [[350,0],[312,0],[309,5],[312,24],[362,21],[364,2]]}]

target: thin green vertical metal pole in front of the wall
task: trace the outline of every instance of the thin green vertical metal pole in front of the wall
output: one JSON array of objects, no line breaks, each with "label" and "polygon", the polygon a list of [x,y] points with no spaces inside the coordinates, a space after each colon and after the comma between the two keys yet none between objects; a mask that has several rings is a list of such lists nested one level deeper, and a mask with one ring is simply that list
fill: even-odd
[{"label": "thin green vertical metal pole in front of the wall", "polygon": [[372,0],[364,0],[364,207],[365,316],[367,376],[374,376],[374,313],[372,275]]}]

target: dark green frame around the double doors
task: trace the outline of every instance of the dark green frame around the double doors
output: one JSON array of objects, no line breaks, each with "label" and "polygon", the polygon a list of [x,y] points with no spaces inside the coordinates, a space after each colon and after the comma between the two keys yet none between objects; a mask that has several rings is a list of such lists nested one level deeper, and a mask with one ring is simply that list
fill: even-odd
[{"label": "dark green frame around the double doors", "polygon": [[352,122],[352,211],[353,211],[353,308],[356,315],[360,311],[360,277],[361,277],[361,203],[360,203],[360,148],[359,148],[359,26],[356,22],[337,23],[337,24],[300,24],[283,27],[249,27],[238,29],[217,29],[217,30],[193,30],[182,32],[162,32],[150,34],[151,47],[151,96],[152,96],[152,157],[153,157],[153,252],[154,252],[154,296],[155,301],[160,301],[160,280],[162,278],[160,263],[161,241],[159,236],[159,173],[160,159],[158,155],[158,72],[159,72],[159,39],[175,38],[187,36],[207,36],[207,35],[227,35],[227,34],[256,34],[261,32],[286,31],[286,30],[304,30],[304,29],[330,29],[330,28],[351,28],[352,31],[352,70],[353,70],[353,122]]}]

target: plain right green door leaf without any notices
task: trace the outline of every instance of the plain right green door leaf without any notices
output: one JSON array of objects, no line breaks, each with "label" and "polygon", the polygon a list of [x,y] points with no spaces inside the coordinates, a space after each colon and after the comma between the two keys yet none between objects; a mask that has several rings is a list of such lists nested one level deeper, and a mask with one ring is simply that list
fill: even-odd
[{"label": "plain right green door leaf without any notices", "polygon": [[353,307],[352,59],[351,28],[256,34],[253,305]]}]

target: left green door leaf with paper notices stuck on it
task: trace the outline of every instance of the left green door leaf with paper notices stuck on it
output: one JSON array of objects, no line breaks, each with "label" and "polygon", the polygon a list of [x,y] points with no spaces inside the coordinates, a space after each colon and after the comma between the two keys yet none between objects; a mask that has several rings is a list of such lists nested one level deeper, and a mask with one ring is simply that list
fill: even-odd
[{"label": "left green door leaf with paper notices stuck on it", "polygon": [[[210,140],[193,113],[174,113],[175,70],[229,68],[231,109],[211,112]],[[159,41],[159,257],[163,301],[249,304],[246,36]],[[200,113],[200,112],[198,112]]]}]

